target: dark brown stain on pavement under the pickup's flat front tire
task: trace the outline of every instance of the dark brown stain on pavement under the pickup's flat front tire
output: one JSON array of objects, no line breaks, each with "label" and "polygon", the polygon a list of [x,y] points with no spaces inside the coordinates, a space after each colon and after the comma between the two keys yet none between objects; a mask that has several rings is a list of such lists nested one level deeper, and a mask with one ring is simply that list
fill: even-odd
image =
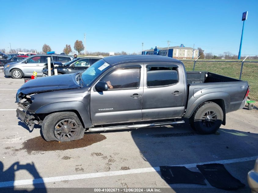
[{"label": "dark brown stain on pavement under the pickup's flat front tire", "polygon": [[58,142],[58,141],[45,141],[42,136],[38,136],[32,139],[28,139],[23,142],[23,147],[20,150],[26,150],[29,154],[31,152],[45,152],[45,151],[56,151],[56,150],[67,150],[82,148],[93,143],[103,141],[106,137],[102,134],[85,134],[82,139],[76,141]]}]

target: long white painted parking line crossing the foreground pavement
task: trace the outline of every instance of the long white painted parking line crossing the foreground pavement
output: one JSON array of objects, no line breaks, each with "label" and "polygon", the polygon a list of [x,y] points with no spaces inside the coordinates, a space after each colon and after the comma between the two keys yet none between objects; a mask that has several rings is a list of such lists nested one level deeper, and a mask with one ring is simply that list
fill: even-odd
[{"label": "long white painted parking line crossing the foreground pavement", "polygon": [[[237,158],[237,159],[225,159],[211,162],[201,162],[201,163],[191,163],[191,164],[183,164],[183,165],[174,165],[174,166],[185,166],[187,168],[196,167],[196,165],[209,164],[209,163],[237,163],[237,162],[246,162],[257,159],[258,156],[253,157],[245,157],[245,158]],[[9,187],[9,186],[20,186],[20,185],[28,185],[28,184],[40,184],[47,182],[57,182],[64,180],[79,180],[79,179],[87,179],[87,178],[95,178],[95,177],[107,177],[107,176],[118,176],[125,174],[133,174],[133,173],[146,173],[146,172],[156,172],[160,171],[159,167],[149,167],[149,168],[139,168],[132,170],[120,170],[120,171],[111,171],[111,172],[100,172],[100,173],[85,173],[85,174],[77,174],[77,175],[69,175],[69,176],[56,176],[56,177],[45,177],[45,178],[37,178],[30,180],[15,180],[15,181],[6,181],[0,182],[0,188]]]}]

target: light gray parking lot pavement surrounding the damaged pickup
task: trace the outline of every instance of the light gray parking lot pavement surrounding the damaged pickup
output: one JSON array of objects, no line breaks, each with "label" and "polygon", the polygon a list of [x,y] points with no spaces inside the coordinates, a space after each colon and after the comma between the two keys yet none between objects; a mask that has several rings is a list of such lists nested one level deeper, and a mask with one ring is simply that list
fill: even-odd
[{"label": "light gray parking lot pavement surrounding the damaged pickup", "polygon": [[[20,188],[167,188],[170,192],[227,192],[207,185],[167,184],[159,166],[223,163],[250,192],[247,172],[258,157],[258,110],[228,113],[218,134],[198,135],[180,126],[85,133],[84,139],[45,142],[16,117],[16,91],[23,79],[0,73],[0,187]],[[27,145],[27,144],[28,145]],[[48,145],[49,144],[49,145]],[[15,164],[15,166],[13,165]],[[33,180],[35,179],[35,180]]]}]

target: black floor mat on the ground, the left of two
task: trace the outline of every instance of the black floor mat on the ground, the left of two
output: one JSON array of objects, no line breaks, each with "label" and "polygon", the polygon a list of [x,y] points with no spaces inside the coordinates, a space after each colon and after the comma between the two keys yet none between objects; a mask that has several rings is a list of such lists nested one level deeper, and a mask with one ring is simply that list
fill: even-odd
[{"label": "black floor mat on the ground, the left of two", "polygon": [[199,172],[192,172],[184,166],[159,166],[162,178],[168,184],[203,184],[205,178]]}]

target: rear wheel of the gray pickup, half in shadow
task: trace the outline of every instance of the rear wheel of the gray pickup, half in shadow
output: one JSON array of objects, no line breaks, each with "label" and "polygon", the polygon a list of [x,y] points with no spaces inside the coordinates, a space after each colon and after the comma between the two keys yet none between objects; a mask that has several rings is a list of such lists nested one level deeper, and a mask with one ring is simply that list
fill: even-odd
[{"label": "rear wheel of the gray pickup, half in shadow", "polygon": [[222,121],[223,111],[214,102],[202,103],[190,118],[190,124],[198,134],[215,133],[220,128]]}]

